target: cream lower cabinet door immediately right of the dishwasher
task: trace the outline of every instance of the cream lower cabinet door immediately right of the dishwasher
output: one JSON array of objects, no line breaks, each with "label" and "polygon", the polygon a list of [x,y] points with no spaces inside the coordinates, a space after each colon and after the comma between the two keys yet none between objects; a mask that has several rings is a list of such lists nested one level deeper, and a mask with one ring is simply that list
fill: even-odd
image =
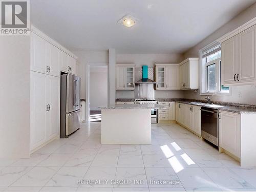
[{"label": "cream lower cabinet door immediately right of the dishwasher", "polygon": [[240,114],[220,111],[219,145],[240,157]]}]

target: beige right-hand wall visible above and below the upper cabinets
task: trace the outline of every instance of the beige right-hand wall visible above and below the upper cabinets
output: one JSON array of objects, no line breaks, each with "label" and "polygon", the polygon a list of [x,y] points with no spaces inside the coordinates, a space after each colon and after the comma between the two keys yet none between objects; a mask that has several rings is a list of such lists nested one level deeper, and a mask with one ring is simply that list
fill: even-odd
[{"label": "beige right-hand wall visible above and below the upper cabinets", "polygon": [[[214,33],[210,34],[198,45],[188,50],[184,53],[184,58],[187,57],[199,57],[199,50],[207,46],[211,42],[215,41],[219,37],[223,36],[227,32],[230,32],[244,23],[248,22],[250,19],[256,17],[256,3],[247,8],[245,11],[241,12],[239,15],[230,20],[227,24],[219,28]],[[239,98],[239,93],[242,94],[242,98]],[[256,88],[253,86],[236,86],[231,87],[230,96],[214,96],[213,100],[226,101],[226,102],[238,102],[246,104],[256,104]],[[194,91],[185,91],[185,98],[189,99],[205,99],[205,95],[199,95],[199,93],[194,93]]]}]

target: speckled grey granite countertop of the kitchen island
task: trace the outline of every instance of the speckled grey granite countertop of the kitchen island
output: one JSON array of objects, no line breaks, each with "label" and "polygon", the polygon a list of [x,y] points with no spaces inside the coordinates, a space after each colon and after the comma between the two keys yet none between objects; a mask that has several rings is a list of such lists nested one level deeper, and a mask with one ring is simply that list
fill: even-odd
[{"label": "speckled grey granite countertop of the kitchen island", "polygon": [[167,109],[167,107],[160,104],[109,104],[99,106],[98,109]]}]

